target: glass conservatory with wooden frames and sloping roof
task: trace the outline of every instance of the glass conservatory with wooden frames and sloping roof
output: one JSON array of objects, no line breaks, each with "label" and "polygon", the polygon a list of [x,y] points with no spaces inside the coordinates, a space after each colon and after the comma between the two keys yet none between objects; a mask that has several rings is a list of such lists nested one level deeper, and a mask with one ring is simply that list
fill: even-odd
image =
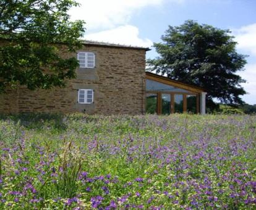
[{"label": "glass conservatory with wooden frames and sloping roof", "polygon": [[146,72],[146,112],[205,114],[205,91],[197,86]]}]

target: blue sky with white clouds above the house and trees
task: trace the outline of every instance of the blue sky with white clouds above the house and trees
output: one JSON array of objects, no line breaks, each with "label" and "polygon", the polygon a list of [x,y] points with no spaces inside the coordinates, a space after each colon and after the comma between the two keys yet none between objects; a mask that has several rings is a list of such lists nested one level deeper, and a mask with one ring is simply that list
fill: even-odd
[{"label": "blue sky with white clouds above the house and trees", "polygon": [[158,56],[153,43],[161,42],[168,25],[186,20],[232,31],[237,52],[248,55],[242,99],[256,104],[256,0],[77,0],[72,20],[85,20],[86,40],[150,47],[147,58]]}]

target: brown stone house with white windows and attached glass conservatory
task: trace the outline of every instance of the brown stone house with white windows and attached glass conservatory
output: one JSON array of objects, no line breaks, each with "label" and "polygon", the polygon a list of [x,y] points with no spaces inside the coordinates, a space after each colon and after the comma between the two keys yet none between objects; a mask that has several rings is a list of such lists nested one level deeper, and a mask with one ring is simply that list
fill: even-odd
[{"label": "brown stone house with white windows and attached glass conservatory", "polygon": [[31,91],[20,86],[0,95],[0,113],[88,114],[205,113],[205,93],[195,86],[145,72],[149,48],[85,41],[77,54],[77,78],[65,88]]}]

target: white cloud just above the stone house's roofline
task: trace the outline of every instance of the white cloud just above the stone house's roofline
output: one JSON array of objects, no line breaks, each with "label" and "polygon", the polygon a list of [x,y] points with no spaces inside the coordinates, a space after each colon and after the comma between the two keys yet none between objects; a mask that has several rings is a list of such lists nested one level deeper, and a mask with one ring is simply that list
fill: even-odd
[{"label": "white cloud just above the stone house's roofline", "polygon": [[139,29],[133,25],[124,25],[110,30],[85,35],[86,40],[103,41],[115,44],[150,47],[153,45],[147,38],[139,38]]}]

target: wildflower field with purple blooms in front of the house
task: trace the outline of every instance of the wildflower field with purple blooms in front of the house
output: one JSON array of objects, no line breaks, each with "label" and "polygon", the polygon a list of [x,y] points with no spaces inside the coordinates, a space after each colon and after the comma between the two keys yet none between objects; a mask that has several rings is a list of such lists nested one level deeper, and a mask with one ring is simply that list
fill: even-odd
[{"label": "wildflower field with purple blooms in front of the house", "polygon": [[0,118],[0,209],[256,209],[256,116]]}]

